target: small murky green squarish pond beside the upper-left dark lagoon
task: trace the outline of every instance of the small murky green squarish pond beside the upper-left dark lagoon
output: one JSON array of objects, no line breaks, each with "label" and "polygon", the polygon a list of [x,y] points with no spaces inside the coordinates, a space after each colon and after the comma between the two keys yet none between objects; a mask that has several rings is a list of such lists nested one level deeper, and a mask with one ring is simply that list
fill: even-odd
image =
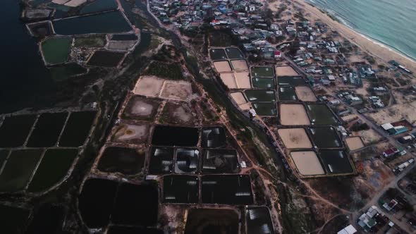
[{"label": "small murky green squarish pond beside the upper-left dark lagoon", "polygon": [[68,61],[72,37],[50,37],[41,44],[44,61],[48,64],[65,63]]}]

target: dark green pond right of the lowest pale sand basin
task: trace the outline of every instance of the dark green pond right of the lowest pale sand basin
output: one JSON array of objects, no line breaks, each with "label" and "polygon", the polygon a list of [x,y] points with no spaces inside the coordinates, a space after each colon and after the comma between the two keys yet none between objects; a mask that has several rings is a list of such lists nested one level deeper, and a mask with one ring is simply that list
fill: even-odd
[{"label": "dark green pond right of the lowest pale sand basin", "polygon": [[341,150],[321,150],[319,156],[325,169],[330,174],[353,173],[348,155]]}]

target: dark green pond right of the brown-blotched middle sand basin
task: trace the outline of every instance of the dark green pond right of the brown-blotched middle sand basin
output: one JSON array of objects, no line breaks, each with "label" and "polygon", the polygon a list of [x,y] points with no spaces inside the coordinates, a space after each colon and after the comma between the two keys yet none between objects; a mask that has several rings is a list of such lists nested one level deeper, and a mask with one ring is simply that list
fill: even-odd
[{"label": "dark green pond right of the brown-blotched middle sand basin", "polygon": [[341,148],[342,142],[335,128],[309,128],[312,140],[318,148]]}]

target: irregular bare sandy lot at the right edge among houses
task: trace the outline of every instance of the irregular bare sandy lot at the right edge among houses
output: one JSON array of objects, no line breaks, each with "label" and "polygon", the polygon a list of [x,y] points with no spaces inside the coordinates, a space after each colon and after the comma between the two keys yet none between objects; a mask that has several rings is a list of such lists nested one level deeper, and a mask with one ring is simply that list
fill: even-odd
[{"label": "irregular bare sandy lot at the right edge among houses", "polygon": [[392,123],[405,118],[412,125],[416,124],[416,101],[409,104],[396,104],[386,109],[377,111],[376,113],[367,113],[367,116],[381,125],[384,123]]}]

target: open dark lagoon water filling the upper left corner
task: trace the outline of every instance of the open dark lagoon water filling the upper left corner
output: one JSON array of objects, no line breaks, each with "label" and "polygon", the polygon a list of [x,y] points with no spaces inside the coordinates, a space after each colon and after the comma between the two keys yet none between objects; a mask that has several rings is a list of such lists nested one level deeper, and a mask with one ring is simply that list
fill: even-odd
[{"label": "open dark lagoon water filling the upper left corner", "polygon": [[0,14],[4,32],[0,37],[0,113],[4,113],[41,101],[41,94],[54,90],[55,85],[35,39],[19,20],[18,1],[0,1],[0,8],[4,9]]}]

